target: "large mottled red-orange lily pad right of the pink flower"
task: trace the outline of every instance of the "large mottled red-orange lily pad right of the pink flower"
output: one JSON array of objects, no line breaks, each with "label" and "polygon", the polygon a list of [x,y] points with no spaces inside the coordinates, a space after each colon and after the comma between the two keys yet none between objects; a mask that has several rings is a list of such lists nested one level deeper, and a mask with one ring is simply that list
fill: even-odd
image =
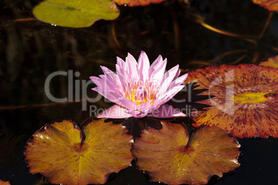
[{"label": "large mottled red-orange lily pad right of the pink flower", "polygon": [[211,66],[189,72],[201,95],[216,96],[203,101],[211,107],[193,117],[198,127],[218,126],[235,137],[278,137],[278,68],[241,64]]}]

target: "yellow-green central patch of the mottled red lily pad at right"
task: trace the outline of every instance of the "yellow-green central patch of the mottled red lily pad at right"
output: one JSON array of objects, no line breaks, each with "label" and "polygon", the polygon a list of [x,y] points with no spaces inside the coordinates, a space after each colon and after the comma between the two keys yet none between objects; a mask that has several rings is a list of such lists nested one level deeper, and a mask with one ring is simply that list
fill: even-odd
[{"label": "yellow-green central patch of the mottled red lily pad at right", "polygon": [[234,96],[234,101],[242,104],[259,104],[268,100],[265,95],[266,93],[243,93]]}]

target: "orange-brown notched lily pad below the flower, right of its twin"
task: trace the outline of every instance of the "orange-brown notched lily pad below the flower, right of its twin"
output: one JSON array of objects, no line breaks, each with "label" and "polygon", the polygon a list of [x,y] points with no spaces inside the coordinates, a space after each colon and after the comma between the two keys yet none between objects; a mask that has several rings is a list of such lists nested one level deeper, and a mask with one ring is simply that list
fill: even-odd
[{"label": "orange-brown notched lily pad below the flower, right of its twin", "polygon": [[152,181],[168,184],[207,184],[212,175],[239,167],[239,144],[217,127],[198,128],[189,139],[179,124],[163,121],[163,128],[148,128],[133,144],[138,168]]}]

